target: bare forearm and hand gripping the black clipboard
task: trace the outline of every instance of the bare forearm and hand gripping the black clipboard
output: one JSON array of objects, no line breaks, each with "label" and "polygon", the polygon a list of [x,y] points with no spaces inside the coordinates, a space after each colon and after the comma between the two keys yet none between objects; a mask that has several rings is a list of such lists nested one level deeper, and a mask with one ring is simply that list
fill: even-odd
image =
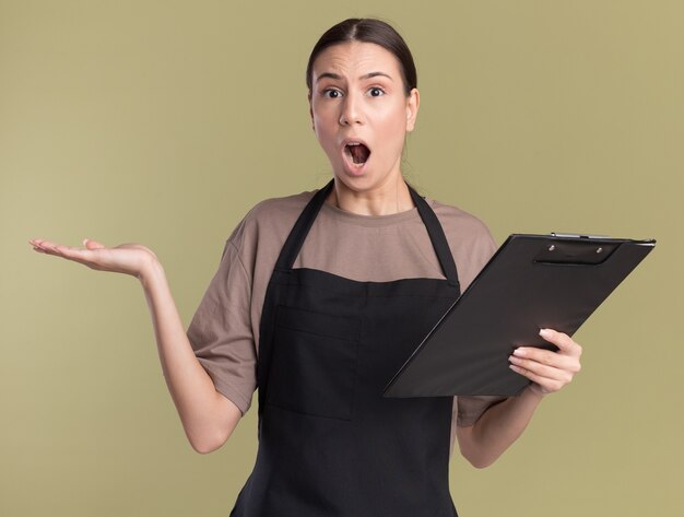
[{"label": "bare forearm and hand gripping the black clipboard", "polygon": [[581,346],[568,336],[543,330],[558,352],[522,346],[510,357],[511,369],[533,381],[517,397],[491,407],[473,425],[457,427],[461,454],[475,467],[492,465],[522,434],[544,396],[563,388],[580,369]]}]

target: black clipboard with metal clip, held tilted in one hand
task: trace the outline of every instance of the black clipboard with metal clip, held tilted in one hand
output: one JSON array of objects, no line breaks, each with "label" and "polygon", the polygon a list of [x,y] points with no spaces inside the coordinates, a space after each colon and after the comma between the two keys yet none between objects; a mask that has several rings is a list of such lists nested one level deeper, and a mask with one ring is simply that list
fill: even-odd
[{"label": "black clipboard with metal clip, held tilted in one hand", "polygon": [[510,235],[384,396],[518,393],[530,381],[509,369],[512,351],[555,349],[539,330],[573,336],[654,245],[590,235]]}]

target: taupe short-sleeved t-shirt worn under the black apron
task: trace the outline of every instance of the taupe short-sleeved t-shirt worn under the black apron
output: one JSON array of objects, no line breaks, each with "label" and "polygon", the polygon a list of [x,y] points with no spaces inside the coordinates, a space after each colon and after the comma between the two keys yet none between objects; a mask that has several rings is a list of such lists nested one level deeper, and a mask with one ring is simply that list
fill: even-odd
[{"label": "taupe short-sleeved t-shirt worn under the black apron", "polygon": [[[247,412],[257,387],[259,322],[266,290],[292,226],[315,192],[257,204],[227,239],[223,257],[188,328],[194,353],[216,390]],[[426,200],[435,211],[458,268],[461,291],[494,254],[487,227],[455,207]],[[359,215],[323,204],[295,268],[356,281],[444,279],[416,208],[390,215]],[[472,425],[500,397],[455,398],[456,424]]]}]

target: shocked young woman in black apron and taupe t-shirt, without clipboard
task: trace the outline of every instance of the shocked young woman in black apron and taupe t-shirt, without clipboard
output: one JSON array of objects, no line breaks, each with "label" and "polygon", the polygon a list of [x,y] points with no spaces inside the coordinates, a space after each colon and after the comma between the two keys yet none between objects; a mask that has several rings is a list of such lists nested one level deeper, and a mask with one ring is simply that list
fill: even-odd
[{"label": "shocked young woman in black apron and taupe t-shirt, without clipboard", "polygon": [[140,279],[164,375],[192,447],[231,436],[259,391],[259,451],[234,516],[453,516],[453,440],[476,467],[512,444],[546,393],[580,368],[581,348],[518,348],[519,396],[385,399],[382,387],[468,286],[495,245],[472,215],[403,179],[420,106],[401,36],[346,20],[314,47],[306,81],[333,179],[263,201],[228,238],[186,333],[162,265],[139,244],[36,251]]}]

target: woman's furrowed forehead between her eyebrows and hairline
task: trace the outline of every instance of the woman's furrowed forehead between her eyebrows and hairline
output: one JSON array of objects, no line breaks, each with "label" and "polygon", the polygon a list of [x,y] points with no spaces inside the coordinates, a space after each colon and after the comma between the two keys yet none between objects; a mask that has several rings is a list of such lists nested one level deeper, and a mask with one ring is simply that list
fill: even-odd
[{"label": "woman's furrowed forehead between her eyebrows and hairline", "polygon": [[370,72],[400,75],[399,61],[392,52],[375,43],[347,42],[328,47],[314,61],[314,81],[321,73],[334,72],[356,78]]}]

